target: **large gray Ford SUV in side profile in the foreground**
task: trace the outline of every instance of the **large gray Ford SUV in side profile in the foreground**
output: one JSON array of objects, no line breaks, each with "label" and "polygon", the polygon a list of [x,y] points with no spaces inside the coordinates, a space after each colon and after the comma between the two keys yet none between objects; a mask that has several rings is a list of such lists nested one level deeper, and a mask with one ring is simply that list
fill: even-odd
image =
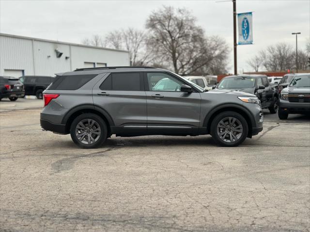
[{"label": "large gray Ford SUV in side profile in the foreground", "polygon": [[82,148],[98,147],[112,134],[211,134],[219,145],[236,146],[263,130],[263,111],[255,95],[208,91],[151,67],[57,74],[44,91],[44,103],[42,129],[70,133]]}]

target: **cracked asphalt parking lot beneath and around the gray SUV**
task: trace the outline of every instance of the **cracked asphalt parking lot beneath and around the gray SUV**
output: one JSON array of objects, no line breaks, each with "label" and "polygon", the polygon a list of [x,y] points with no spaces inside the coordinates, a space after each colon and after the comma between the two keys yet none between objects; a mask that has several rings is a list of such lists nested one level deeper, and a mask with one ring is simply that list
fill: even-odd
[{"label": "cracked asphalt parking lot beneath and around the gray SUV", "polygon": [[113,136],[79,149],[41,131],[42,100],[0,102],[0,231],[310,231],[310,119],[239,147]]}]

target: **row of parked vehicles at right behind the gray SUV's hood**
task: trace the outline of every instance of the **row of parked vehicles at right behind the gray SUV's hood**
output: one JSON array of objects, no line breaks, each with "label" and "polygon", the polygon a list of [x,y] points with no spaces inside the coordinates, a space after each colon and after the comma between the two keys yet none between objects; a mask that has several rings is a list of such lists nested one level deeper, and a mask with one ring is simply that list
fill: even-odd
[{"label": "row of parked vehicles at right behind the gray SUV's hood", "polygon": [[223,78],[213,88],[254,94],[262,108],[269,109],[271,114],[278,112],[279,119],[287,119],[289,114],[310,113],[310,73],[286,74],[278,79],[266,75],[233,75]]}]

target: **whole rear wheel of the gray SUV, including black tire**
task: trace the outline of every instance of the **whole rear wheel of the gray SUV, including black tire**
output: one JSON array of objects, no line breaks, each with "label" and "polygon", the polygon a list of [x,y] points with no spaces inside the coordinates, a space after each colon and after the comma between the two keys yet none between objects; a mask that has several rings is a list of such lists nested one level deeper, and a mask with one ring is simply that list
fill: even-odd
[{"label": "whole rear wheel of the gray SUV, including black tire", "polygon": [[[90,119],[91,121],[88,121],[88,119]],[[82,122],[83,120],[84,122]],[[89,128],[89,123],[87,123],[87,121],[90,122],[90,124],[92,125],[92,120],[94,121],[93,126],[92,128]],[[84,127],[85,130],[82,129],[82,127],[78,126],[79,123],[82,123],[83,126],[85,126]],[[79,130],[77,126],[78,128],[81,128],[81,130]],[[98,131],[96,132],[100,134],[97,134],[97,133],[94,134],[95,129],[98,127],[99,127],[99,132]],[[73,120],[71,127],[70,127],[70,135],[71,135],[73,142],[81,148],[96,148],[96,147],[101,146],[107,139],[107,132],[108,132],[108,128],[107,128],[105,121],[100,116],[91,114],[91,113],[79,115]],[[80,135],[79,138],[78,138],[78,135]]]}]

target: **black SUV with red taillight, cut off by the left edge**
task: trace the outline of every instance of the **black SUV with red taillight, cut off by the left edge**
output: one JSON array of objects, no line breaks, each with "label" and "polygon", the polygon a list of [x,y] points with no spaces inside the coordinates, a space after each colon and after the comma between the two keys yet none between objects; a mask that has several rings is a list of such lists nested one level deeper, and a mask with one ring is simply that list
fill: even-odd
[{"label": "black SUV with red taillight, cut off by the left edge", "polygon": [[17,98],[22,98],[24,96],[24,86],[18,78],[0,76],[0,101],[2,98],[9,98],[10,101],[16,101]]}]

